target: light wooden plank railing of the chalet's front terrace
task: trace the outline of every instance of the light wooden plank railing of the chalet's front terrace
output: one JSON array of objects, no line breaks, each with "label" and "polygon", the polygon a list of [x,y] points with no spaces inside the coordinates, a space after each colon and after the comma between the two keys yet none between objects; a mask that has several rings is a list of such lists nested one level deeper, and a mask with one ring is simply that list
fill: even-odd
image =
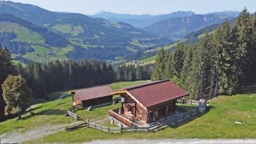
[{"label": "light wooden plank railing of the chalet's front terrace", "polygon": [[[120,107],[122,108],[122,107]],[[115,108],[112,110],[109,110],[109,116],[112,117],[114,120],[119,121],[125,126],[133,126],[133,122],[129,119],[123,117],[123,115],[118,114],[120,108]]]}]

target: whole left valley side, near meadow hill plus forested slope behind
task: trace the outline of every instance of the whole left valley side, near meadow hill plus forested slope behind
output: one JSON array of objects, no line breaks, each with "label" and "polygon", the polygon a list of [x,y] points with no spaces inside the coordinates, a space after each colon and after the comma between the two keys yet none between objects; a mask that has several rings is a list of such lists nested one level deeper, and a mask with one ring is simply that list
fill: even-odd
[{"label": "whole left valley side, near meadow hill plus forested slope behind", "polygon": [[1,1],[0,4],[0,12],[7,13],[1,14],[0,35],[5,36],[2,42],[16,54],[17,60],[23,62],[114,60],[145,47],[170,43],[166,38],[127,23],[112,23],[83,14],[51,12],[11,1]]}]

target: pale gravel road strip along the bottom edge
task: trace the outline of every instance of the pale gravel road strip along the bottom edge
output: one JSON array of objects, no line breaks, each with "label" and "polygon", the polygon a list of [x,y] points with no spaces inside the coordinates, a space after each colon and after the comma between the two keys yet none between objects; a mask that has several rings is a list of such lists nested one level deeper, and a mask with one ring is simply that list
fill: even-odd
[{"label": "pale gravel road strip along the bottom edge", "polygon": [[179,143],[179,144],[255,144],[256,139],[129,139],[129,140],[96,140],[89,142],[88,144],[172,144],[172,143]]}]

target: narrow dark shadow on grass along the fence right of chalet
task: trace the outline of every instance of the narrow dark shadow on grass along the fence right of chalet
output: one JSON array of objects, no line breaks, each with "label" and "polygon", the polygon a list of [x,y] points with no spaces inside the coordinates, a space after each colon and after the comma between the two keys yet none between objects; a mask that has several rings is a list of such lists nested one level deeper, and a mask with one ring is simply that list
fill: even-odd
[{"label": "narrow dark shadow on grass along the fence right of chalet", "polygon": [[205,113],[201,114],[198,113],[196,115],[193,115],[192,117],[188,117],[187,119],[185,119],[184,121],[181,121],[179,123],[175,123],[174,125],[169,126],[170,128],[179,128],[179,126],[183,126],[186,125],[187,123],[190,123],[191,121],[194,121],[195,119],[197,119],[198,117],[201,117],[205,114],[207,114],[207,112],[210,112],[212,108],[215,108],[214,106],[208,106],[207,109],[205,110]]}]

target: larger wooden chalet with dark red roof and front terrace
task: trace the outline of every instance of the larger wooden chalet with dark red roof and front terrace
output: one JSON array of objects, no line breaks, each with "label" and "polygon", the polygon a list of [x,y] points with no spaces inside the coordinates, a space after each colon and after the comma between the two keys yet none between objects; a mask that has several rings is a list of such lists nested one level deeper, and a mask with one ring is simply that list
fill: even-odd
[{"label": "larger wooden chalet with dark red roof and front terrace", "polygon": [[176,100],[188,95],[170,80],[139,84],[110,94],[122,97],[122,107],[110,110],[109,115],[112,122],[123,126],[148,125],[164,119],[175,113]]}]

